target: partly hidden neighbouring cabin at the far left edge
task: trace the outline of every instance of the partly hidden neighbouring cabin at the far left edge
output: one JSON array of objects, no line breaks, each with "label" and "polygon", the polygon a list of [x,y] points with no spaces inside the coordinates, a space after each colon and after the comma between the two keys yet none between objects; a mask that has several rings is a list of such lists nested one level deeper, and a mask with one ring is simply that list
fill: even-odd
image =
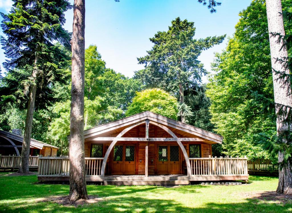
[{"label": "partly hidden neighbouring cabin at the far left edge", "polygon": [[[13,129],[11,132],[0,130],[0,155],[21,155],[23,136],[21,129]],[[31,156],[56,156],[59,148],[33,138],[30,140]]]}]

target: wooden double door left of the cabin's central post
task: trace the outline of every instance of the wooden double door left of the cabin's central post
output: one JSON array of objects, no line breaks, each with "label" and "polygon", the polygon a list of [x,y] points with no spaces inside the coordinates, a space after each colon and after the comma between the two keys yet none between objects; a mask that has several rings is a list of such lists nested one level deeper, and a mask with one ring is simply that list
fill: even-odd
[{"label": "wooden double door left of the cabin's central post", "polygon": [[112,174],[135,174],[135,145],[114,146]]}]

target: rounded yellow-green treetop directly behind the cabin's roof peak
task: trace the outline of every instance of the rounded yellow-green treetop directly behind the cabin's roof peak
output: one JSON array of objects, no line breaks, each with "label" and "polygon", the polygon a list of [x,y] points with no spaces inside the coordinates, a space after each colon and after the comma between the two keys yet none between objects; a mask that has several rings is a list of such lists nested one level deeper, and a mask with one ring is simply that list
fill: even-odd
[{"label": "rounded yellow-green treetop directly behind the cabin's roof peak", "polygon": [[161,89],[146,89],[137,92],[133,103],[128,107],[126,116],[150,111],[172,119],[177,119],[178,103],[176,98]]}]

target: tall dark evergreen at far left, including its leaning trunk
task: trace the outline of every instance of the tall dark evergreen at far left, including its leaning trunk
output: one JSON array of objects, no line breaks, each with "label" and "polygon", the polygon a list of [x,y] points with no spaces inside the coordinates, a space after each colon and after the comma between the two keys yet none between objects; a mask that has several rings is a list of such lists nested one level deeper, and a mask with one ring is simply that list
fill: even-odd
[{"label": "tall dark evergreen at far left, including its leaning trunk", "polygon": [[[27,108],[19,172],[29,171],[34,109],[53,101],[51,85],[64,80],[62,71],[68,58],[53,42],[69,46],[70,34],[62,25],[64,12],[70,8],[67,0],[14,0],[11,12],[1,13],[1,27],[6,35],[1,37],[1,44],[9,58],[3,66],[13,76],[4,79],[1,101],[21,100],[19,103],[25,102]],[[25,71],[20,72],[21,69]]]}]

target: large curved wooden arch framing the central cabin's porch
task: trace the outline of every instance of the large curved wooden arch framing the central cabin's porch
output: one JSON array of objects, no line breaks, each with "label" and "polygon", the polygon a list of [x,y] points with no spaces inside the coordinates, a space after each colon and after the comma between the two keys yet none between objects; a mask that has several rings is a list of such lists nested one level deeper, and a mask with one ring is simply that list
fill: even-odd
[{"label": "large curved wooden arch framing the central cabin's porch", "polygon": [[[130,127],[127,127],[126,129],[124,129],[123,131],[121,131],[116,137],[121,137],[124,134],[126,134],[129,130],[133,129],[134,127],[139,126],[140,124],[145,123],[146,121],[142,121],[139,123],[136,123]],[[157,122],[153,122],[150,121],[150,124],[153,124],[155,126],[160,127],[161,129],[164,129],[168,134],[170,134],[173,138],[178,138],[170,129],[168,129],[166,126],[161,125]],[[107,164],[107,159],[109,157],[110,152],[112,151],[112,149],[114,148],[114,145],[117,143],[118,141],[112,141],[112,143],[109,145],[109,148],[107,149],[107,152],[105,153],[105,157],[103,158],[102,161],[102,167],[101,167],[101,172],[100,172],[100,176],[104,177],[105,176],[105,167]],[[191,176],[191,164],[190,164],[190,160],[189,160],[189,156],[187,155],[187,151],[185,150],[185,147],[183,146],[181,141],[176,141],[178,143],[178,146],[180,146],[181,150],[183,151],[183,155],[185,157],[185,161],[187,164],[187,176]]]}]

